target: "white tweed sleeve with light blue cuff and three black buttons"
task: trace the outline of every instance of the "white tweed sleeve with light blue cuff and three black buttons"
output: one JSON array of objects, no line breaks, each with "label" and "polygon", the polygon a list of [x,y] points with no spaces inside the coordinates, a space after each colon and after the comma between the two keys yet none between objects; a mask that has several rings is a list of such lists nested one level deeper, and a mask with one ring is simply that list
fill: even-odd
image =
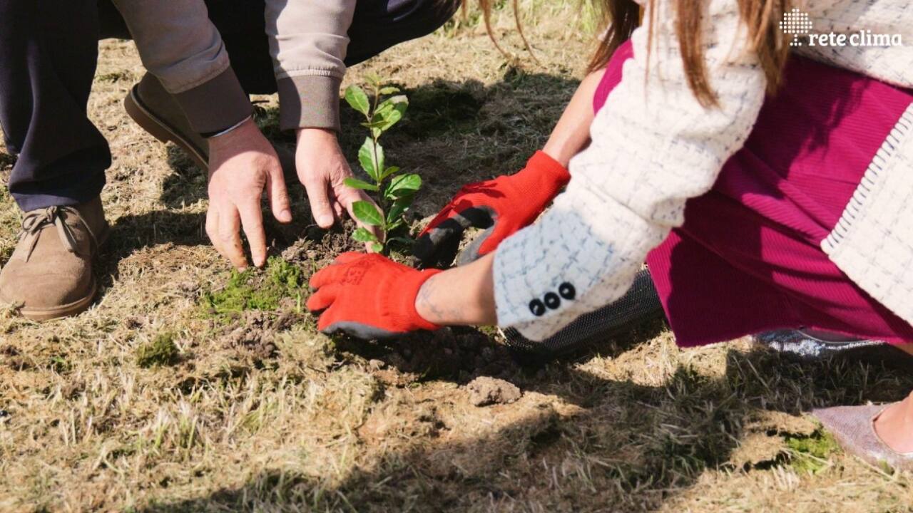
[{"label": "white tweed sleeve with light blue cuff and three black buttons", "polygon": [[542,340],[583,313],[620,298],[647,252],[684,222],[688,198],[708,192],[747,139],[765,78],[746,49],[736,0],[711,0],[703,44],[719,108],[687,86],[672,6],[657,0],[635,57],[596,115],[590,147],[571,162],[572,181],[540,221],[509,237],[494,263],[498,324]]}]

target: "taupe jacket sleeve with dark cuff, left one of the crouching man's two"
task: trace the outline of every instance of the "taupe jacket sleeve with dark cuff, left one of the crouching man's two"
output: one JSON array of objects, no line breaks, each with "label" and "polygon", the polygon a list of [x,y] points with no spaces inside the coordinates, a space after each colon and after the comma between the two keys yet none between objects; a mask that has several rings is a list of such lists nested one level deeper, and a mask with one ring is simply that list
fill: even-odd
[{"label": "taupe jacket sleeve with dark cuff, left one of the crouching man's two", "polygon": [[142,64],[172,93],[200,133],[220,131],[250,115],[250,99],[228,61],[203,0],[114,0]]}]

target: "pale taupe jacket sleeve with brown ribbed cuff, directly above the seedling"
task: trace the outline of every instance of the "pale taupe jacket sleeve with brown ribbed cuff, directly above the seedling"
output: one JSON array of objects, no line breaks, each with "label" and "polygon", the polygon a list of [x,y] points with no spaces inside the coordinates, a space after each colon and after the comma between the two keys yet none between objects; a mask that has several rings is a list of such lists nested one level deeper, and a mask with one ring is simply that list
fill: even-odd
[{"label": "pale taupe jacket sleeve with brown ribbed cuff, directly above the seedling", "polygon": [[340,84],[356,0],[267,0],[283,130],[339,130]]}]

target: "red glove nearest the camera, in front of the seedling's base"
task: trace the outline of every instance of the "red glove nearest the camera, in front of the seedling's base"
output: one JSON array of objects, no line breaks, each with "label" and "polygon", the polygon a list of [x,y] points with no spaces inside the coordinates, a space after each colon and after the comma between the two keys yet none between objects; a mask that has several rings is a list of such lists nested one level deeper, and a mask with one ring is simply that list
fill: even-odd
[{"label": "red glove nearest the camera, in front of the seedling's base", "polygon": [[418,289],[441,271],[419,271],[377,254],[343,253],[329,267],[310,277],[317,288],[308,309],[324,310],[317,328],[327,334],[342,331],[364,340],[387,339],[440,326],[415,311]]}]

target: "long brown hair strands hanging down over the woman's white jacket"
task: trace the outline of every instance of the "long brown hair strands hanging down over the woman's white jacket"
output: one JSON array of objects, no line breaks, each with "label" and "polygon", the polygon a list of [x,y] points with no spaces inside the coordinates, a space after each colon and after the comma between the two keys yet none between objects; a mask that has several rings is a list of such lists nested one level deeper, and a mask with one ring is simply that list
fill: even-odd
[{"label": "long brown hair strands hanging down over the woman's white jacket", "polygon": [[[581,0],[583,1],[583,0]],[[654,4],[649,0],[650,12],[656,13]],[[701,31],[702,17],[707,6],[706,0],[659,0],[675,2],[676,35],[681,47],[682,63],[685,66],[688,88],[704,107],[718,105],[716,93],[710,86],[707,64],[704,60]],[[478,0],[485,17],[488,34],[498,46],[498,41],[491,32],[492,0]],[[782,82],[782,69],[789,56],[789,40],[779,29],[778,21],[791,4],[791,0],[738,0],[742,22],[748,27],[750,49],[757,53],[761,69],[767,76],[768,92],[774,93]],[[530,44],[523,35],[522,26],[517,16],[517,0],[512,0],[517,28],[527,49]],[[468,2],[463,2],[466,9]],[[589,71],[604,68],[612,58],[615,49],[631,37],[631,33],[640,25],[640,5],[633,0],[596,0],[594,6],[599,13],[600,27],[603,29],[603,40],[590,60]],[[465,12],[465,11],[464,11]],[[653,39],[653,24],[650,24],[648,40]],[[504,50],[501,50],[503,53]],[[531,51],[530,51],[531,53]]]}]

